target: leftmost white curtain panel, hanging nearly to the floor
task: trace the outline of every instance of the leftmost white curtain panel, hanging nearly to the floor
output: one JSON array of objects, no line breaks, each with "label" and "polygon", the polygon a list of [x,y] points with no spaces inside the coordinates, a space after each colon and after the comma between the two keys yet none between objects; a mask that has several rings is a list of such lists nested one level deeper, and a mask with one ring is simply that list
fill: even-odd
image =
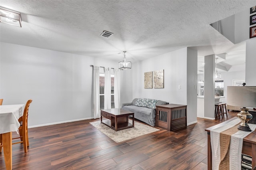
[{"label": "leftmost white curtain panel, hanging nearly to the floor", "polygon": [[100,67],[93,67],[93,115],[94,119],[100,118]]}]

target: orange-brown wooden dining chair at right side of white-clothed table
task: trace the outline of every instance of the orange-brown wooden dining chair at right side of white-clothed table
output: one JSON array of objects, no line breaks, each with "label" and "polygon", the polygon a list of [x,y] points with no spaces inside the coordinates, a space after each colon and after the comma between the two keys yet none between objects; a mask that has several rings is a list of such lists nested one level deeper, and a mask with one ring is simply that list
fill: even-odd
[{"label": "orange-brown wooden dining chair at right side of white-clothed table", "polygon": [[25,153],[28,152],[28,146],[29,146],[29,142],[28,142],[28,108],[29,108],[31,102],[32,102],[32,99],[29,99],[27,101],[23,116],[20,117],[20,119],[18,119],[18,121],[20,122],[20,127],[19,127],[20,137],[12,138],[12,139],[20,138],[20,142],[14,142],[12,144],[23,143]]}]

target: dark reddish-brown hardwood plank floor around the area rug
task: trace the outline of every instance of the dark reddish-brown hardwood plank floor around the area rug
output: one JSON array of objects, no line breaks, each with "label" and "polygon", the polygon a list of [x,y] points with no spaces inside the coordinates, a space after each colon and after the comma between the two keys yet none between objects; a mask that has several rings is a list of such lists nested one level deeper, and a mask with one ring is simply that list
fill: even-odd
[{"label": "dark reddish-brown hardwood plank floor around the area rug", "polygon": [[[12,148],[13,170],[207,170],[207,132],[224,119],[198,118],[182,130],[158,132],[116,143],[89,122],[77,121],[28,129],[29,149]],[[17,134],[14,132],[13,136]],[[0,169],[5,169],[0,154]]]}]

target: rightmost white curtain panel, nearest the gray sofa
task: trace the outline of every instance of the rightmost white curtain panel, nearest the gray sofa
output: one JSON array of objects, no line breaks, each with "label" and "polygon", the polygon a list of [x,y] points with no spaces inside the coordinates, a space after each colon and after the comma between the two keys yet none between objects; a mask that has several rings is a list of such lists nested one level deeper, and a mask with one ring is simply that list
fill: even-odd
[{"label": "rightmost white curtain panel, nearest the gray sofa", "polygon": [[114,103],[115,108],[120,108],[120,73],[119,69],[114,69]]}]

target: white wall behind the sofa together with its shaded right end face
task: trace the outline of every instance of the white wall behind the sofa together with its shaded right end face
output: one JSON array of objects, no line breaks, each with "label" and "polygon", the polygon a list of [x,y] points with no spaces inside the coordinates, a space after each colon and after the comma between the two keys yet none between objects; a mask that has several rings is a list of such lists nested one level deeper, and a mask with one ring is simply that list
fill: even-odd
[{"label": "white wall behind the sofa together with its shaded right end face", "polygon": [[[164,88],[154,89],[153,83],[152,89],[144,89],[144,73],[161,69],[164,69]],[[139,61],[132,67],[132,98],[150,98],[188,105],[187,122],[196,123],[196,77],[197,51],[187,47]],[[178,89],[179,85],[181,89]]]}]

